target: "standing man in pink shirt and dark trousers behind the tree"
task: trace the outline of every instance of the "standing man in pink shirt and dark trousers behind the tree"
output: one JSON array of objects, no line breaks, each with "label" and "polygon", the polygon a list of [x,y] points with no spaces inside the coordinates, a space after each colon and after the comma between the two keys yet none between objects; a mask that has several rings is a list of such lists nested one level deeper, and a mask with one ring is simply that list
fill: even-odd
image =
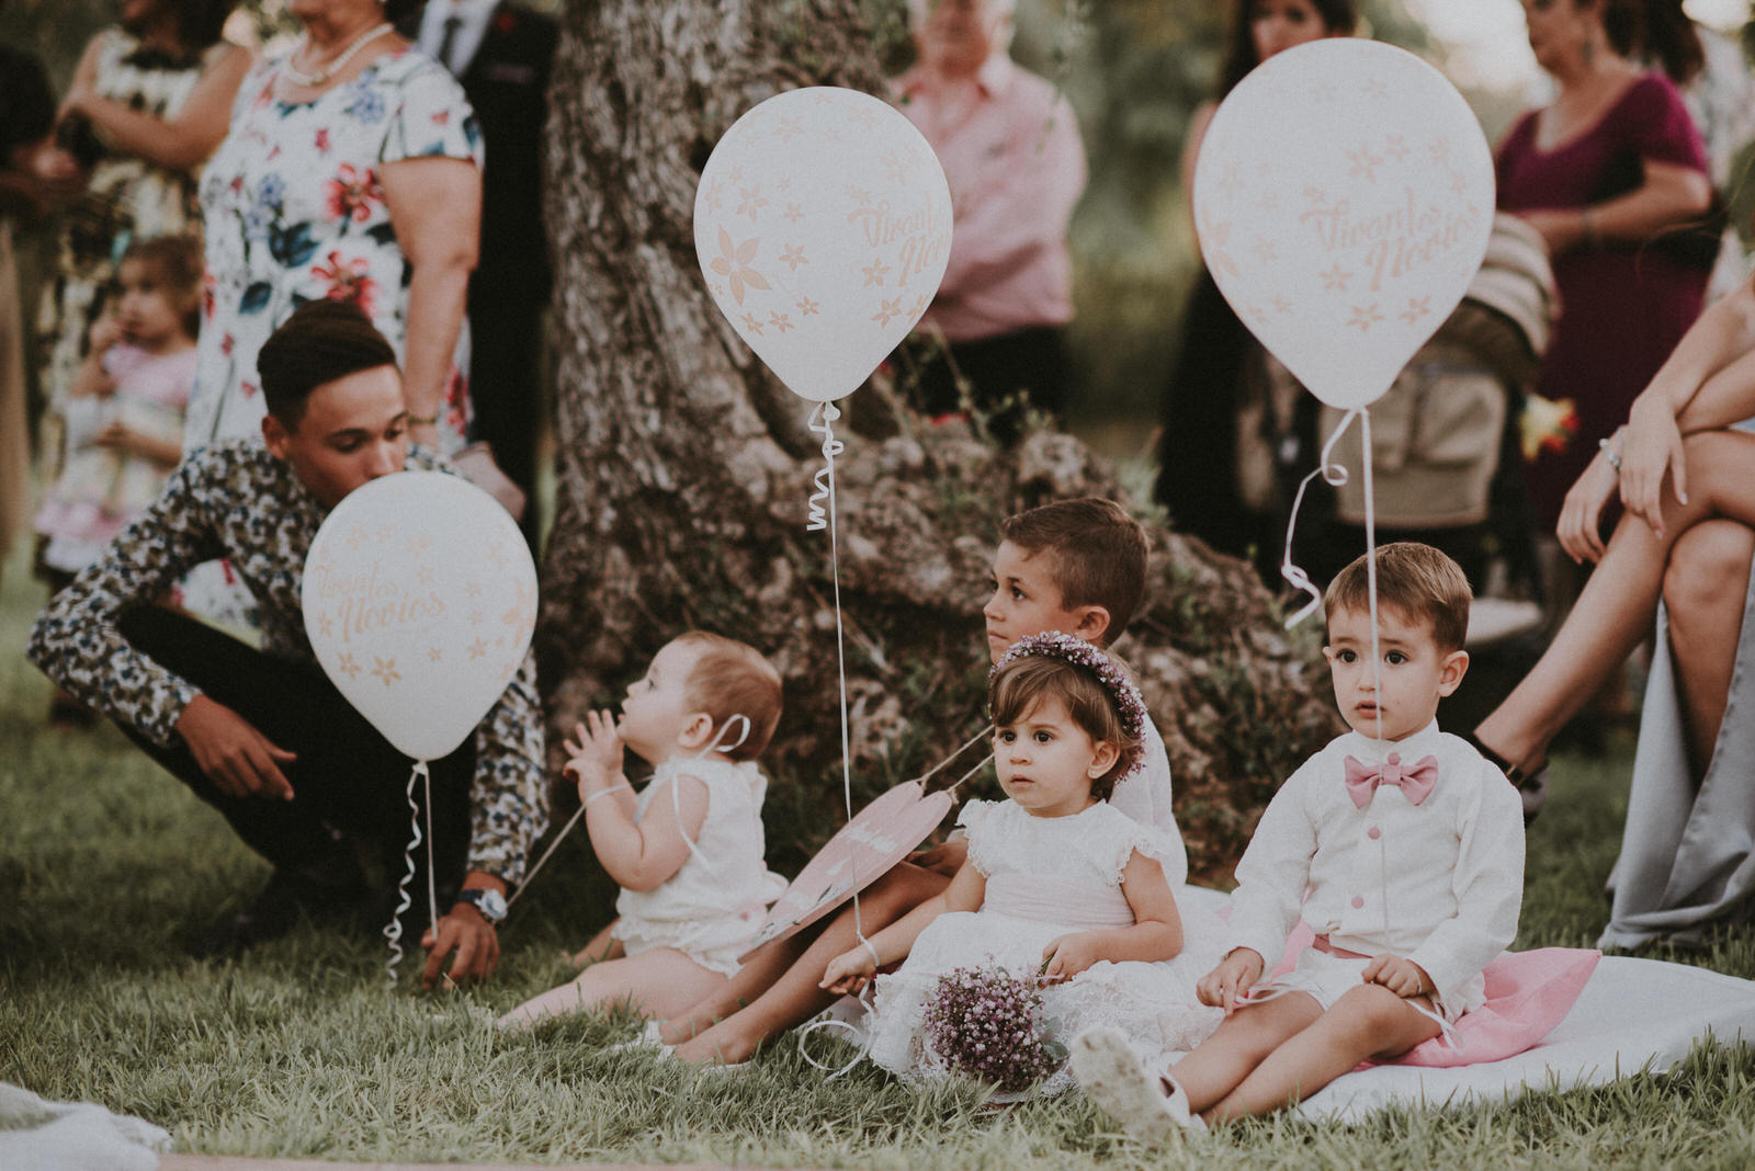
[{"label": "standing man in pink shirt and dark trousers behind the tree", "polygon": [[1014,7],[909,0],[920,63],[895,82],[953,209],[951,259],[920,324],[946,345],[920,370],[914,403],[956,412],[960,375],[1000,440],[1016,436],[1025,407],[1057,412],[1067,400],[1067,221],[1085,191],[1072,107],[1007,54]]}]

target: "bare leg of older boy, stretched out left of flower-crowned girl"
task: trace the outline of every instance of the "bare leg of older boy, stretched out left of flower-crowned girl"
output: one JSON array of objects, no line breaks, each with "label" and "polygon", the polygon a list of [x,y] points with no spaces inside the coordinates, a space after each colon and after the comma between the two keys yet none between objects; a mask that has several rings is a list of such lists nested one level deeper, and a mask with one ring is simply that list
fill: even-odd
[{"label": "bare leg of older boy, stretched out left of flower-crowned girl", "polygon": [[[860,927],[870,936],[939,894],[948,882],[949,878],[935,871],[907,862],[897,864],[860,894]],[[828,961],[856,945],[853,908],[848,906],[748,1008],[732,1013],[695,1040],[677,1045],[676,1055],[683,1061],[728,1064],[748,1059],[767,1038],[809,1020],[841,999],[839,992],[825,992],[816,985]]]}]

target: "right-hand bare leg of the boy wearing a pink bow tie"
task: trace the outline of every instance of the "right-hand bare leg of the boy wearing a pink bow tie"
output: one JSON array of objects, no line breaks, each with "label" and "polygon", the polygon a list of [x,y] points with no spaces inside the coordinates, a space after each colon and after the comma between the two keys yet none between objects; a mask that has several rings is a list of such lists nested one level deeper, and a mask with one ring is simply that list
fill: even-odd
[{"label": "right-hand bare leg of the boy wearing a pink bow tie", "polygon": [[[1430,1001],[1420,997],[1430,1008]],[[1437,1022],[1378,983],[1364,983],[1271,1052],[1207,1122],[1265,1115],[1302,1101],[1367,1057],[1395,1057],[1437,1036]],[[1178,1078],[1181,1080],[1181,1078]]]}]

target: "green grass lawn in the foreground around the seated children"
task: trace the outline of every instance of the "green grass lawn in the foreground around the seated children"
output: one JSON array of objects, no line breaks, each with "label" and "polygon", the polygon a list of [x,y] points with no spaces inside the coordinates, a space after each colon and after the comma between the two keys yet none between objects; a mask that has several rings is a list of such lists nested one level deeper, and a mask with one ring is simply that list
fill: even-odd
[{"label": "green grass lawn in the foreground around the seated children", "polygon": [[[577,850],[518,905],[500,978],[483,989],[425,996],[412,964],[391,989],[381,943],[314,929],[237,962],[190,961],[177,940],[265,868],[112,729],[42,726],[49,689],[19,656],[39,603],[14,559],[0,580],[0,1080],[142,1115],[184,1152],[897,1169],[1755,1160],[1755,1055],[1723,1048],[1599,1090],[1353,1127],[1274,1118],[1164,1155],[1076,1096],[983,1113],[971,1090],[920,1092],[869,1064],[825,1082],[790,1040],[714,1078],[607,1054],[625,1020],[497,1036],[493,1015],[560,980],[562,950],[609,913]],[[1625,745],[1606,763],[1557,763],[1520,947],[1595,940],[1625,775]],[[1751,976],[1751,940],[1673,959]]]}]

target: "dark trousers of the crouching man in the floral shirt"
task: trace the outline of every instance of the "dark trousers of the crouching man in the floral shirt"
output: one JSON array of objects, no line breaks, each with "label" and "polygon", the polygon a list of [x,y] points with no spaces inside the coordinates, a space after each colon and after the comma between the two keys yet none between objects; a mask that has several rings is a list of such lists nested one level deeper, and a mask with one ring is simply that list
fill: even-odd
[{"label": "dark trousers of the crouching man in the floral shirt", "polygon": [[[121,633],[140,654],[223,703],[297,761],[281,771],[291,801],[233,798],[195,763],[181,738],[160,749],[130,727],[140,749],[219,810],[249,848],[277,869],[325,880],[344,855],[363,850],[379,861],[390,884],[402,878],[402,850],[411,840],[405,785],[412,761],[353,710],[316,664],[267,656],[184,614],[140,607],[121,619]],[[432,761],[435,875],[444,887],[463,876],[469,852],[470,782],[476,745]],[[421,787],[416,801],[425,806]],[[423,810],[425,812],[425,810]],[[421,822],[425,833],[425,817]],[[419,885],[426,884],[426,848],[416,850]],[[425,899],[416,899],[425,910]]]}]

